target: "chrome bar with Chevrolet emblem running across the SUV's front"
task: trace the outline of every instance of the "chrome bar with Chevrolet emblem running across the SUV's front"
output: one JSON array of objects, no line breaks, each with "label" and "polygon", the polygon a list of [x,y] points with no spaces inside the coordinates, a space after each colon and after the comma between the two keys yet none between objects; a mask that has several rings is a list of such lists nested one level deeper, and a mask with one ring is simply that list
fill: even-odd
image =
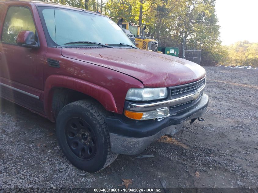
[{"label": "chrome bar with Chevrolet emblem running across the SUV's front", "polygon": [[204,84],[204,86],[202,88],[200,88],[199,90],[198,89],[195,90],[194,93],[192,93],[190,95],[170,99],[167,101],[154,102],[154,103],[149,103],[149,104],[129,103],[127,105],[127,109],[132,110],[132,111],[144,112],[144,111],[156,110],[156,109],[160,109],[160,108],[164,108],[164,107],[170,107],[170,106],[178,105],[178,104],[185,103],[185,102],[190,102],[190,101],[196,100],[203,93],[205,86],[206,86],[206,84]]}]

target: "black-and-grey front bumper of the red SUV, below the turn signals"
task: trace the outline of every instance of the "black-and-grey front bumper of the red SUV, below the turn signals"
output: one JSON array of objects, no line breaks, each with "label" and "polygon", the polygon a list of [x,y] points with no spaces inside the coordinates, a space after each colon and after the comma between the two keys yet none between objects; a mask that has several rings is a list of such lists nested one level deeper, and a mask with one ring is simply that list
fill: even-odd
[{"label": "black-and-grey front bumper of the red SUV, below the turn signals", "polygon": [[108,117],[111,150],[126,155],[136,155],[144,151],[153,141],[165,134],[174,135],[184,125],[184,121],[198,118],[205,113],[209,97],[205,94],[198,103],[185,111],[162,120],[124,120],[121,117]]}]

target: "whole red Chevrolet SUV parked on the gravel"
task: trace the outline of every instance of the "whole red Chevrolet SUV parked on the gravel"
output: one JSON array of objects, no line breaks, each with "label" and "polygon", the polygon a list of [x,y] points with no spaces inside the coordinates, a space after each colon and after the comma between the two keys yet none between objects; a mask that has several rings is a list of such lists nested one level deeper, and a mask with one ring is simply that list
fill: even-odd
[{"label": "whole red Chevrolet SUV parked on the gravel", "polygon": [[136,48],[110,18],[0,1],[1,97],[56,122],[67,159],[90,172],[203,115],[205,70]]}]

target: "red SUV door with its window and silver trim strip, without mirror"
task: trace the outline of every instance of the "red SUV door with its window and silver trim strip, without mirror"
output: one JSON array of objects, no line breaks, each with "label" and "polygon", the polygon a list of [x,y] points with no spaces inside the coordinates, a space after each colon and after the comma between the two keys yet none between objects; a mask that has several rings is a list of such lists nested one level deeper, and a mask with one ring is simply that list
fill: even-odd
[{"label": "red SUV door with its window and silver trim strip, without mirror", "polygon": [[43,91],[45,49],[17,45],[16,38],[23,30],[36,33],[30,8],[10,6],[5,16],[0,43],[1,95],[42,113],[43,103],[39,98]]}]

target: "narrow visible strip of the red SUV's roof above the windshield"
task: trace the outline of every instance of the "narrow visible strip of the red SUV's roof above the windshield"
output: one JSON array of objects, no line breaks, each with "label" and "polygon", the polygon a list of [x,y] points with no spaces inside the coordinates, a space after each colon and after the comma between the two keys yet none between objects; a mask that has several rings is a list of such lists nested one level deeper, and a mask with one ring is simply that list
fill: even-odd
[{"label": "narrow visible strip of the red SUV's roof above the windshield", "polygon": [[[5,4],[8,2],[10,4],[15,4],[14,2],[19,2],[19,4],[35,4],[36,6],[47,6],[47,7],[55,7],[56,8],[65,8],[65,9],[71,9],[71,10],[76,10],[76,11],[84,11],[84,12],[87,12],[87,13],[93,13],[93,14],[96,14],[96,15],[101,15],[101,16],[105,16],[105,15],[102,15],[100,13],[96,13],[94,11],[89,11],[87,9],[82,9],[82,8],[77,8],[77,7],[71,7],[71,6],[68,6],[68,5],[60,5],[60,4],[56,4],[56,3],[48,3],[48,2],[42,2],[42,1],[30,1],[30,0],[0,0],[0,3],[1,2],[4,2]],[[107,16],[105,16],[107,17]]]}]

